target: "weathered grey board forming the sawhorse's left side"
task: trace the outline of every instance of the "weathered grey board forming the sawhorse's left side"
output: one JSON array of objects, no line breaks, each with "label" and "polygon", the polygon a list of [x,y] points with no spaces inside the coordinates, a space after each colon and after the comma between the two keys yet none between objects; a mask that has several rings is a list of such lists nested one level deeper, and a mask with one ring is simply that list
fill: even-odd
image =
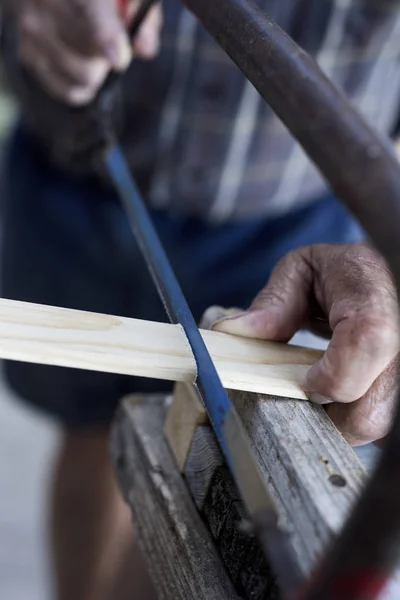
[{"label": "weathered grey board forming the sawhorse's left side", "polygon": [[127,399],[112,453],[161,599],[238,600],[162,434],[160,398]]}]

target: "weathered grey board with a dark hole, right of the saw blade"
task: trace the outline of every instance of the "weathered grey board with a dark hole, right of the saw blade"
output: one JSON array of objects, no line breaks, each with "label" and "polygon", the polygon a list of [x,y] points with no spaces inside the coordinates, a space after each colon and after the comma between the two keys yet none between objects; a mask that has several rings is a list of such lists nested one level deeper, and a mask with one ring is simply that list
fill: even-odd
[{"label": "weathered grey board with a dark hole, right of the saw blade", "polygon": [[309,572],[348,516],[365,470],[322,407],[241,392],[230,396],[299,565]]}]

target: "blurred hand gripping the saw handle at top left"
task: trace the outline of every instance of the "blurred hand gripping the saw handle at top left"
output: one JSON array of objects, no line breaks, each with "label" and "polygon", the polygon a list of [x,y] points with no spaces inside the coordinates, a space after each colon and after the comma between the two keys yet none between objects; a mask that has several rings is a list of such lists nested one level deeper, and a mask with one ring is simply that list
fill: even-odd
[{"label": "blurred hand gripping the saw handle at top left", "polygon": [[[139,0],[130,2],[124,19],[117,0],[18,0],[20,59],[56,98],[86,104],[110,70],[128,66],[132,47],[126,21],[139,5]],[[161,21],[156,5],[135,37],[135,56],[157,53]]]}]

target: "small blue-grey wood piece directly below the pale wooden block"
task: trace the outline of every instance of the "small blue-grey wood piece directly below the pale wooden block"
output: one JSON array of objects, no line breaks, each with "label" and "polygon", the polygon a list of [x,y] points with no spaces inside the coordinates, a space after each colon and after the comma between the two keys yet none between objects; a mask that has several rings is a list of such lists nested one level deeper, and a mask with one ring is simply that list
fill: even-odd
[{"label": "small blue-grey wood piece directly below the pale wooden block", "polygon": [[198,425],[186,459],[184,476],[199,510],[203,508],[215,469],[224,463],[210,425]]}]

